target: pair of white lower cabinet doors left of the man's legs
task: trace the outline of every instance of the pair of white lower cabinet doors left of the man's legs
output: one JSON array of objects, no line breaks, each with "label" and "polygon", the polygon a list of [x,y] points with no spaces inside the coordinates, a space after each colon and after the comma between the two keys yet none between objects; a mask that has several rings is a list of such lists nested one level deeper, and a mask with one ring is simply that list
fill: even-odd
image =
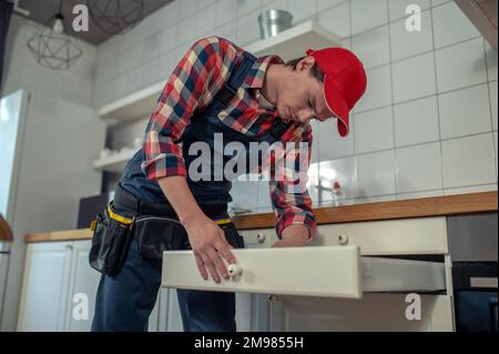
[{"label": "pair of white lower cabinet doors left of the man's legs", "polygon": [[18,331],[90,331],[100,273],[89,250],[90,241],[28,245]]}]

